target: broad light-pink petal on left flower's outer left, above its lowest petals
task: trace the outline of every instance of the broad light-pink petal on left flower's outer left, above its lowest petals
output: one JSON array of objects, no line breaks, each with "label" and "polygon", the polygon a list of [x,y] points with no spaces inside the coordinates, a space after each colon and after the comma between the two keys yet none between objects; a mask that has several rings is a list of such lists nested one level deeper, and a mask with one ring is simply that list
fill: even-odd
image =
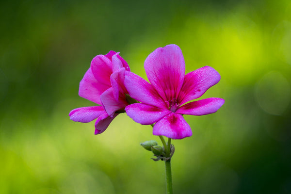
[{"label": "broad light-pink petal on left flower's outer left, above its lowest petals", "polygon": [[107,84],[99,83],[89,68],[80,82],[79,96],[97,104],[101,104],[100,95],[109,88]]}]

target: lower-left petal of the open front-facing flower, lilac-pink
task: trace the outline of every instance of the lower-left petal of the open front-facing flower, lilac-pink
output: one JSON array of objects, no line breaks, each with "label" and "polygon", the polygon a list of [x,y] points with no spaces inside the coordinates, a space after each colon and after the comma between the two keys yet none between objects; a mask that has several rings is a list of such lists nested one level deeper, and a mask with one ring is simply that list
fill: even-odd
[{"label": "lower-left petal of the open front-facing flower, lilac-pink", "polygon": [[125,108],[125,111],[130,118],[142,125],[153,124],[165,115],[171,113],[169,110],[160,109],[143,103],[130,104]]}]

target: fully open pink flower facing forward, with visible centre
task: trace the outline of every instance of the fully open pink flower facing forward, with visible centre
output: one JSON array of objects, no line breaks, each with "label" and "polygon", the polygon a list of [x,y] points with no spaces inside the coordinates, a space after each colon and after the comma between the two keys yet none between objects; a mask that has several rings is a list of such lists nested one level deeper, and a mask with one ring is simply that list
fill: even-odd
[{"label": "fully open pink flower facing forward, with visible centre", "polygon": [[152,52],[146,58],[145,70],[150,83],[134,73],[125,73],[129,96],[141,102],[130,104],[125,111],[137,123],[156,123],[154,135],[172,139],[189,137],[192,130],[183,114],[215,113],[224,104],[224,99],[214,97],[189,102],[218,83],[220,75],[210,66],[185,75],[184,58],[177,45]]}]

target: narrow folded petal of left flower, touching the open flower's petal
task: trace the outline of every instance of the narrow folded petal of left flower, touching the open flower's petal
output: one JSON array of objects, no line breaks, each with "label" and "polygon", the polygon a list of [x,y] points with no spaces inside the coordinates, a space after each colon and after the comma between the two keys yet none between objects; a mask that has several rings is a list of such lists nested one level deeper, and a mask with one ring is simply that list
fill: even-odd
[{"label": "narrow folded petal of left flower, touching the open flower's petal", "polygon": [[113,96],[118,101],[119,98],[125,99],[125,94],[127,94],[127,90],[124,86],[124,73],[125,68],[122,67],[111,75],[111,85],[113,87]]}]

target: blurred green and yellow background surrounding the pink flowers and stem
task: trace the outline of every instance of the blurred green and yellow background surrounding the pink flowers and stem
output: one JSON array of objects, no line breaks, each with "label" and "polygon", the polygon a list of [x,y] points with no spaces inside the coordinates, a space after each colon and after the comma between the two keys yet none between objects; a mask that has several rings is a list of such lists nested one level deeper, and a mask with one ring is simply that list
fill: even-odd
[{"label": "blurred green and yellow background surrounding the pink flowers and stem", "polygon": [[98,54],[119,51],[146,78],[149,53],[183,52],[221,81],[226,100],[187,116],[173,140],[176,194],[291,194],[291,1],[11,0],[0,3],[0,193],[162,194],[164,164],[139,143],[159,138],[119,115],[100,135],[69,120],[94,103],[79,82]]}]

